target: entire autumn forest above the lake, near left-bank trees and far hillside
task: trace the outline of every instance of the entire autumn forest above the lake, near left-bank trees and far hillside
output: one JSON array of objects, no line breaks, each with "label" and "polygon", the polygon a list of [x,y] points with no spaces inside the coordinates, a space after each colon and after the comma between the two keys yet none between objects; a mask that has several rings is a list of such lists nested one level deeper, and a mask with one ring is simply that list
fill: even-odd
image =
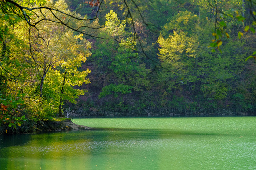
[{"label": "entire autumn forest above the lake, near left-bank trees and far hillside", "polygon": [[1,130],[70,115],[255,115],[255,7],[3,0]]}]

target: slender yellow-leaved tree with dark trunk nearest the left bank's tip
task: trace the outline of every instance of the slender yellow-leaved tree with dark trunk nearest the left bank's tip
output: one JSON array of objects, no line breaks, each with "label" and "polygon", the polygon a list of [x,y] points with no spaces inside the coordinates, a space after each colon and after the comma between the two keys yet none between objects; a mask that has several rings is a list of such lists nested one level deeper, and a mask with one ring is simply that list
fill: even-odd
[{"label": "slender yellow-leaved tree with dark trunk nearest the left bank's tip", "polygon": [[69,47],[67,47],[66,50],[69,50],[69,53],[68,51],[65,53],[68,55],[66,61],[51,69],[49,77],[46,78],[47,98],[54,100],[53,104],[58,106],[59,116],[61,117],[63,116],[62,105],[64,101],[76,103],[77,96],[84,95],[87,92],[87,90],[73,87],[90,83],[86,76],[91,71],[89,69],[78,71],[78,68],[91,55],[89,51],[91,44],[83,40],[82,35],[74,36],[73,41],[77,41],[77,39],[79,41],[77,44],[69,44]]}]

